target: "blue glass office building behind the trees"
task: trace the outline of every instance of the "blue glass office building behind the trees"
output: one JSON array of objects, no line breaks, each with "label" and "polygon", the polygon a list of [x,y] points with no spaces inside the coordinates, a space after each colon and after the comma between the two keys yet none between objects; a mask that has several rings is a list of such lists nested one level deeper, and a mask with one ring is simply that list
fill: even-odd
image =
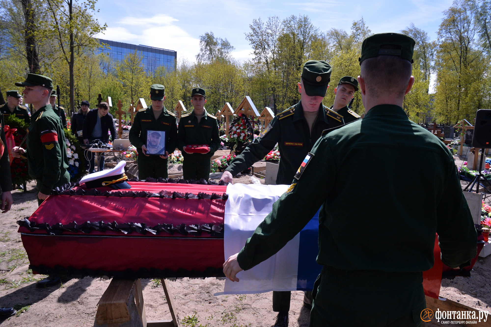
[{"label": "blue glass office building behind the trees", "polygon": [[143,56],[143,67],[147,72],[154,72],[160,66],[165,66],[168,71],[176,67],[177,52],[173,50],[103,39],[99,39],[99,42],[109,45],[109,49],[101,48],[99,51],[109,54],[114,60],[123,60],[126,54],[139,52]]}]

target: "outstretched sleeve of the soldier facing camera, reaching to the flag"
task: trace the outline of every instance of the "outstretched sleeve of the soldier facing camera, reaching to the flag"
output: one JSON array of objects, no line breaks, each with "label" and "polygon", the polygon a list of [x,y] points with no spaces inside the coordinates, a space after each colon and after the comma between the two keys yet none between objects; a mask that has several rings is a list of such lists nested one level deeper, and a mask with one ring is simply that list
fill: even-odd
[{"label": "outstretched sleeve of the soldier facing camera, reaching to the flag", "polygon": [[247,145],[240,155],[235,157],[234,161],[225,169],[232,176],[237,175],[242,170],[247,169],[254,163],[263,160],[264,157],[273,150],[274,146],[281,139],[281,127],[278,118],[275,117],[267,130],[258,136],[254,142]]}]

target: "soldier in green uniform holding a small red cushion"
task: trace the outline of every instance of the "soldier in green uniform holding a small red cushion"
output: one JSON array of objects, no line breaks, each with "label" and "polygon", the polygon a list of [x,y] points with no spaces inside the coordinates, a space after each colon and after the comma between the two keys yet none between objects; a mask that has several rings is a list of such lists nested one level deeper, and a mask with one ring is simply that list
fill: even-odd
[{"label": "soldier in green uniform holding a small red cushion", "polygon": [[[218,136],[217,117],[209,114],[205,109],[205,90],[195,87],[191,91],[191,104],[193,110],[181,116],[177,147],[184,157],[183,178],[190,180],[208,180],[210,178],[211,157],[220,147]],[[206,153],[192,153],[186,151],[188,145],[208,145]]]}]

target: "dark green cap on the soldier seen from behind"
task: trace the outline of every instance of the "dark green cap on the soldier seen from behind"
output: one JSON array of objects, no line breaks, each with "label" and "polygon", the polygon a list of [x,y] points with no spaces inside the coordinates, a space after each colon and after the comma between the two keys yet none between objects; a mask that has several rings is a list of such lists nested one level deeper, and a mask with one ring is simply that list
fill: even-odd
[{"label": "dark green cap on the soldier seen from behind", "polygon": [[414,40],[405,34],[400,33],[379,33],[373,34],[363,40],[361,44],[361,57],[358,61],[376,57],[379,55],[397,55],[411,63],[414,50]]}]

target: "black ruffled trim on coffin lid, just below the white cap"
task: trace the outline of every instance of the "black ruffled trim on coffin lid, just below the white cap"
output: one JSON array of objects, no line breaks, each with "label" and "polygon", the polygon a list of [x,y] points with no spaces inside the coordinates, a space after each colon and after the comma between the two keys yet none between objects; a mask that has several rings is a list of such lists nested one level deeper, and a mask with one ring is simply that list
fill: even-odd
[{"label": "black ruffled trim on coffin lid, just below the white cap", "polygon": [[[58,189],[58,188],[56,188]],[[176,191],[165,191],[162,190],[159,193],[149,192],[149,191],[99,191],[97,189],[78,189],[75,191],[74,189],[68,188],[66,190],[52,190],[52,195],[98,195],[98,196],[117,196],[117,197],[160,197],[167,199],[198,199],[198,200],[227,200],[227,193],[217,194],[217,193],[203,193],[198,192],[198,194],[194,193],[181,193]]]}]

